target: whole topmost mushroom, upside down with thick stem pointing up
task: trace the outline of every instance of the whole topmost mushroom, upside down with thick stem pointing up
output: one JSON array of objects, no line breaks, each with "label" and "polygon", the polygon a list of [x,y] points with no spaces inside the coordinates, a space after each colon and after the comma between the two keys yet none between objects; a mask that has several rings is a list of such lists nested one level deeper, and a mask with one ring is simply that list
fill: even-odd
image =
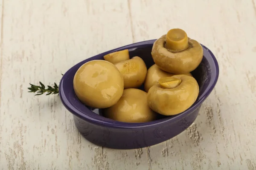
[{"label": "whole topmost mushroom, upside down with thick stem pointing up", "polygon": [[203,48],[199,42],[187,37],[182,29],[171,29],[154,42],[151,51],[155,64],[173,74],[189,73],[203,59]]}]

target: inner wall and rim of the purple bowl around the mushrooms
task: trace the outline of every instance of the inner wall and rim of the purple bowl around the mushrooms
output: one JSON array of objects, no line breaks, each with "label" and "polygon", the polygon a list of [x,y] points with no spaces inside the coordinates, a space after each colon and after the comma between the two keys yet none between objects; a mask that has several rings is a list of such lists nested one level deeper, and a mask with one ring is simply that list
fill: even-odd
[{"label": "inner wall and rim of the purple bowl around the mushrooms", "polygon": [[[74,78],[74,75],[76,74],[76,71],[85,62],[95,60],[95,59],[104,59],[103,56],[106,54],[109,54],[114,51],[128,49],[130,58],[134,56],[141,57],[144,60],[147,68],[150,68],[151,65],[154,65],[154,61],[151,57],[151,49],[154,41],[155,40],[149,40],[149,41],[134,43],[131,45],[126,45],[111,51],[107,51],[102,54],[98,54],[94,57],[85,59],[84,61],[74,65],[64,74],[59,85],[59,90],[60,90],[59,94],[64,106],[71,113],[73,113],[76,116],[79,116],[81,119],[87,119],[90,122],[98,123],[101,125],[109,125],[109,126],[116,126],[116,127],[141,127],[141,126],[158,124],[165,121],[175,121],[176,119],[186,115],[187,113],[194,111],[196,108],[198,108],[201,105],[201,103],[211,93],[218,79],[218,63],[214,55],[212,54],[212,52],[209,51],[209,49],[206,48],[204,45],[202,45],[204,49],[204,57],[202,59],[202,62],[198,66],[198,68],[192,71],[192,75],[193,77],[195,77],[199,85],[199,95],[196,102],[183,113],[180,113],[175,116],[159,115],[159,119],[151,122],[144,122],[144,123],[117,122],[102,116],[101,109],[87,107],[83,103],[81,103],[79,99],[76,98],[76,95],[73,90],[73,78]],[[144,90],[144,85],[142,85],[140,89]]]}]

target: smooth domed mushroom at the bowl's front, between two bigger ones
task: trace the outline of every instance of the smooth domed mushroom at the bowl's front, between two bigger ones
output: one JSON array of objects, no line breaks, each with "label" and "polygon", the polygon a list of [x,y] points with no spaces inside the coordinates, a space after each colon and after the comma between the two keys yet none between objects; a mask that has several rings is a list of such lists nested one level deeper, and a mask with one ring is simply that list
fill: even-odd
[{"label": "smooth domed mushroom at the bowl's front, between two bigger ones", "polygon": [[128,88],[119,101],[103,111],[105,117],[129,123],[149,122],[157,118],[147,103],[147,93],[137,88]]}]

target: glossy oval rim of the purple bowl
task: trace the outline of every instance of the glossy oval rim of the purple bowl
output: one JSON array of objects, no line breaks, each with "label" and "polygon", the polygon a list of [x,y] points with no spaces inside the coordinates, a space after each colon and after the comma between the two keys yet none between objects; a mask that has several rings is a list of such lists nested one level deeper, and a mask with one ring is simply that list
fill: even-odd
[{"label": "glossy oval rim of the purple bowl", "polygon": [[[68,100],[67,94],[65,93],[65,90],[63,88],[63,82],[68,79],[68,73],[74,69],[77,65],[81,65],[84,64],[85,62],[89,62],[90,60],[94,60],[99,56],[104,56],[105,54],[114,52],[114,51],[120,51],[123,49],[132,49],[132,48],[140,48],[140,47],[146,47],[148,45],[153,45],[154,40],[146,40],[146,41],[142,41],[142,42],[136,42],[136,43],[132,43],[129,45],[124,45],[121,46],[119,48],[115,48],[106,52],[103,52],[101,54],[97,54],[96,56],[84,59],[83,61],[77,63],[76,65],[73,65],[70,69],[68,69],[66,71],[66,73],[63,75],[63,77],[61,78],[61,81],[59,83],[59,96],[61,99],[62,104],[64,105],[64,107],[70,111],[73,115],[78,116],[79,118],[96,124],[96,125],[100,125],[100,126],[107,126],[107,127],[116,127],[116,128],[142,128],[142,127],[151,127],[151,126],[155,126],[155,125],[159,125],[159,124],[163,124],[166,122],[169,123],[174,123],[180,119],[182,119],[184,116],[188,115],[189,113],[192,113],[193,111],[195,111],[199,106],[201,106],[201,104],[204,102],[204,100],[209,96],[209,94],[212,92],[213,88],[215,87],[217,81],[218,81],[218,76],[219,76],[219,66],[218,66],[218,62],[217,59],[215,58],[214,54],[212,53],[212,51],[209,50],[209,48],[207,48],[206,46],[202,45],[203,49],[204,49],[204,57],[207,59],[207,61],[209,62],[210,68],[211,68],[211,73],[214,73],[214,77],[211,77],[213,79],[210,79],[209,85],[207,86],[207,88],[205,89],[205,91],[203,91],[203,93],[200,96],[200,99],[198,99],[190,108],[188,108],[186,111],[177,114],[175,116],[172,117],[166,117],[163,119],[157,119],[154,121],[150,121],[150,122],[142,122],[142,123],[128,123],[128,122],[118,122],[109,118],[106,118],[104,116],[100,116],[96,113],[94,113],[93,111],[91,111],[89,108],[86,109],[86,111],[80,111],[79,109],[77,109],[76,107],[74,107]],[[211,60],[211,61],[210,61]],[[72,79],[73,82],[73,79]],[[199,96],[198,96],[199,97]],[[79,101],[79,99],[76,98],[76,100]],[[80,101],[79,101],[80,102]],[[88,112],[91,115],[88,115]],[[99,119],[97,119],[99,118]]]}]

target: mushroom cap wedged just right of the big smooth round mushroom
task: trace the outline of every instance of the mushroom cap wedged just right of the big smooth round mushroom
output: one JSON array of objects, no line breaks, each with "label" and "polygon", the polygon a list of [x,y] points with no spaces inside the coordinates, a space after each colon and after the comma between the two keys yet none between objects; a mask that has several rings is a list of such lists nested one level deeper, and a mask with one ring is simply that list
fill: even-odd
[{"label": "mushroom cap wedged just right of the big smooth round mushroom", "polygon": [[115,64],[124,79],[124,88],[138,88],[143,84],[147,67],[140,57],[132,57],[126,61]]}]

